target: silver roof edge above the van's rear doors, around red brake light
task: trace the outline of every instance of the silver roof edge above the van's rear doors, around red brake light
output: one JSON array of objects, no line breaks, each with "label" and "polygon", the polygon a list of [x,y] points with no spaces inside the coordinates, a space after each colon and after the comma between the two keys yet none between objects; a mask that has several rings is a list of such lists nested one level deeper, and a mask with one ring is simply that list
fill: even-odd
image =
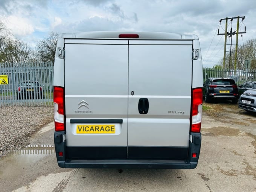
[{"label": "silver roof edge above the van's rear doors, around red brake light", "polygon": [[149,31],[90,31],[78,33],[62,33],[59,38],[65,39],[119,39],[120,34],[138,34],[139,39],[172,39],[172,40],[198,40],[197,35],[183,35],[178,33],[149,32]]}]

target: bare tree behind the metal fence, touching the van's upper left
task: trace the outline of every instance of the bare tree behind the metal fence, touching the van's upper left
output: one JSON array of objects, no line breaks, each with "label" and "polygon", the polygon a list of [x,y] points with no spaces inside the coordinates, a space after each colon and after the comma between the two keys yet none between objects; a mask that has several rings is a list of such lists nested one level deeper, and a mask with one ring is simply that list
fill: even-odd
[{"label": "bare tree behind the metal fence, touching the van's upper left", "polygon": [[54,63],[58,35],[58,33],[52,31],[49,33],[49,37],[37,43],[37,53],[34,53],[34,59],[36,61]]}]

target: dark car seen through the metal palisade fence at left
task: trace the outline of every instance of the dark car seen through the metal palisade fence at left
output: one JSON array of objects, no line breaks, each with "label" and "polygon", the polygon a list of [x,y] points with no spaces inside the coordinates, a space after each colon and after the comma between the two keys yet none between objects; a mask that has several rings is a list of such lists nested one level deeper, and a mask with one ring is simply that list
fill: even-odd
[{"label": "dark car seen through the metal palisade fence at left", "polygon": [[38,81],[23,81],[18,87],[17,99],[43,99],[43,88]]}]

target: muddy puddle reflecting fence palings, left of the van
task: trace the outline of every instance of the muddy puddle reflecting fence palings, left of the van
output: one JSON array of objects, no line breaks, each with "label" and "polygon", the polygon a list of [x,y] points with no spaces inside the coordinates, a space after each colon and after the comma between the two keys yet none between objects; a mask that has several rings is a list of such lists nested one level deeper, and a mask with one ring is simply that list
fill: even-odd
[{"label": "muddy puddle reflecting fence palings, left of the van", "polygon": [[55,155],[53,145],[27,145],[9,152],[0,158],[0,176],[37,164],[38,160],[48,155]]}]

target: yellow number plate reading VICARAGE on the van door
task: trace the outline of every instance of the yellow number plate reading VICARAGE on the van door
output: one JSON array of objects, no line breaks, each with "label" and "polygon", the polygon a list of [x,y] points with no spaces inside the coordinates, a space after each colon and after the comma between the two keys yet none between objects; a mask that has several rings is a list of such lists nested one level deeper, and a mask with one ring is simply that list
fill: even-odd
[{"label": "yellow number plate reading VICARAGE on the van door", "polygon": [[116,127],[115,125],[76,125],[76,133],[116,133]]}]

